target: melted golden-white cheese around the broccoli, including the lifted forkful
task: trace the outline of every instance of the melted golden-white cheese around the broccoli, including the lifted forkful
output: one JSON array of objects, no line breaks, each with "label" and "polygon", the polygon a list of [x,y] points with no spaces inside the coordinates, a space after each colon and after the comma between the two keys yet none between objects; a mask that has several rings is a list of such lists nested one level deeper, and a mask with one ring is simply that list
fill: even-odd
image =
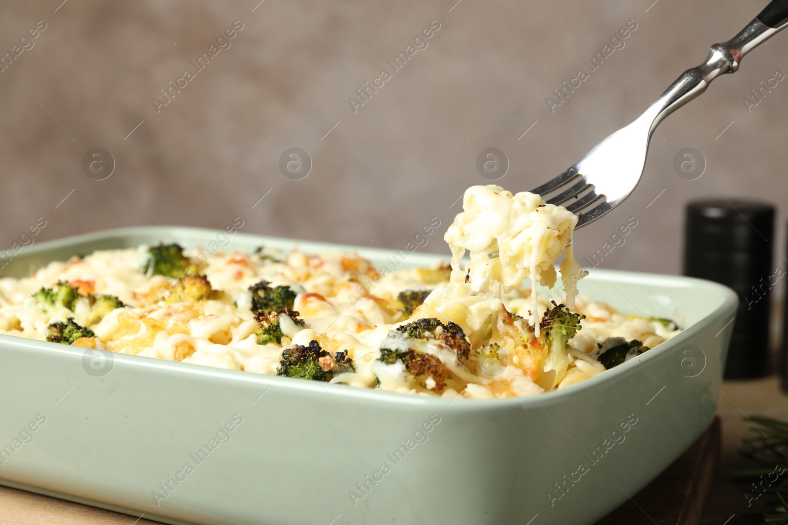
[{"label": "melted golden-white cheese around the broccoli, including the lifted forkful", "polygon": [[[221,293],[203,301],[169,302],[163,299],[173,281],[142,272],[147,246],[99,250],[84,258],[52,262],[29,277],[0,279],[0,333],[43,340],[48,325],[68,317],[86,326],[91,313],[87,298],[76,301],[73,311],[44,308],[32,298],[41,287],[65,281],[84,293],[111,294],[125,303],[90,326],[96,335],[91,345],[118,353],[273,375],[284,347],[317,341],[322,349],[347,352],[353,360],[355,372],[335,376],[334,383],[377,384],[393,392],[444,397],[541,393],[546,350],[534,332],[548,301],[536,287],[555,283],[553,264],[563,253],[561,274],[567,305],[572,305],[577,279],[583,275],[571,250],[577,219],[566,209],[545,205],[538,195],[513,195],[496,186],[470,188],[463,209],[445,237],[452,249],[451,275],[445,266],[380,275],[355,253],[213,253],[203,272]],[[470,250],[467,267],[461,264],[465,250]],[[500,259],[487,257],[494,250],[500,251]],[[190,257],[198,253],[199,249],[185,252]],[[297,292],[294,309],[307,325],[280,316],[281,344],[257,342],[248,288],[263,279]],[[530,279],[530,288],[522,287],[523,279]],[[397,299],[406,290],[429,292],[410,317],[400,311]],[[550,383],[557,388],[604,372],[597,354],[605,338],[638,339],[652,347],[678,333],[582,296],[574,301],[574,311],[586,319],[569,342],[566,371]],[[460,359],[437,342],[408,341],[395,331],[419,318],[459,325],[470,342],[470,357]],[[401,360],[381,361],[384,341],[388,348],[414,349],[437,360],[450,375],[445,389],[431,377],[415,381]],[[497,349],[494,366],[480,357],[489,345]]]}]

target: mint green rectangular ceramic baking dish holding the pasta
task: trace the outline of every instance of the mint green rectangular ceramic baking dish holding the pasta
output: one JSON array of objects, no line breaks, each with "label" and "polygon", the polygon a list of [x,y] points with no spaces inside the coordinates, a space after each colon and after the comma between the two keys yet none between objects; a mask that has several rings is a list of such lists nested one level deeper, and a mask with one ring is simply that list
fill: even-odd
[{"label": "mint green rectangular ceramic baking dish holding the pasta", "polygon": [[[42,242],[2,275],[170,235],[204,246],[217,233],[133,227]],[[392,255],[242,233],[226,249],[261,244],[356,250],[378,264]],[[403,267],[446,258],[413,253]],[[165,523],[594,523],[708,427],[737,298],[699,279],[598,269],[580,291],[686,330],[584,383],[490,401],[0,335],[0,483]]]}]

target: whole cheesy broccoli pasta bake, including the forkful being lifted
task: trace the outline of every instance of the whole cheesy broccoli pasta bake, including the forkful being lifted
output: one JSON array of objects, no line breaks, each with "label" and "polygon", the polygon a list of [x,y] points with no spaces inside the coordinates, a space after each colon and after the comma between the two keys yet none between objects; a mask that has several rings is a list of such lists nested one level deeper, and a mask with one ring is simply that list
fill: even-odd
[{"label": "whole cheesy broccoli pasta bake, including the forkful being lifted", "polygon": [[[0,333],[471,398],[560,389],[678,333],[670,320],[574,298],[585,272],[571,253],[577,219],[567,210],[494,186],[470,188],[463,208],[445,236],[451,265],[433,268],[388,272],[356,253],[177,244],[55,261],[0,279]],[[552,287],[562,254],[567,297],[557,301],[536,285]]]}]

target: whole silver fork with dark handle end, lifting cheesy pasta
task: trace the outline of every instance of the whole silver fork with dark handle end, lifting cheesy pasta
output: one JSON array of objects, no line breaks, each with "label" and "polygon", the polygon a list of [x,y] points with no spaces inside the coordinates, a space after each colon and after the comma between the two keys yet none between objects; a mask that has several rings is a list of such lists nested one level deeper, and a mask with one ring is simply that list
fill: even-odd
[{"label": "whole silver fork with dark handle end, lifting cheesy pasta", "polygon": [[[547,200],[563,204],[576,199],[567,209],[580,217],[575,228],[584,227],[621,204],[630,196],[643,175],[649,140],[664,118],[706,91],[723,73],[733,73],[745,54],[788,25],[788,0],[773,0],[766,9],[726,43],[714,44],[703,64],[687,69],[632,124],[615,131],[594,146],[580,161],[555,179],[532,190],[550,194]],[[498,257],[492,252],[489,257]]]}]

